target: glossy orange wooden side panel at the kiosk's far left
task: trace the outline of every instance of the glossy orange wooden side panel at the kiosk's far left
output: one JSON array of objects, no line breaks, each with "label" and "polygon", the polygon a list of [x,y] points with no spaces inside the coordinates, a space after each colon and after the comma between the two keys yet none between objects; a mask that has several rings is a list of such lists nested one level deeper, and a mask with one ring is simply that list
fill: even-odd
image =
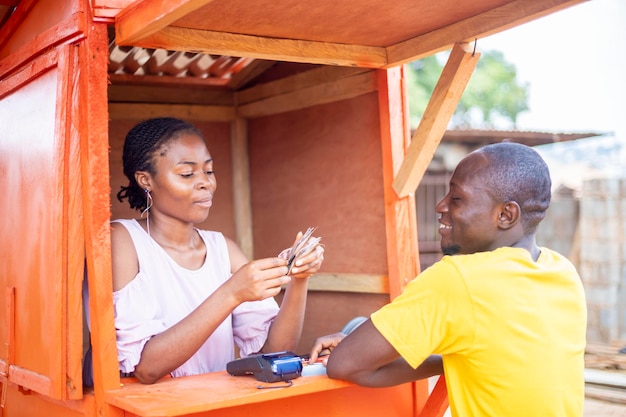
[{"label": "glossy orange wooden side panel at the kiosk's far left", "polygon": [[[0,91],[0,172],[7,174],[0,178],[0,211],[11,219],[0,226],[0,286],[15,288],[14,340],[3,340],[14,344],[9,380],[61,398],[67,225],[65,138],[58,134],[64,122],[57,119],[64,103],[57,98],[67,78],[58,58],[43,56]],[[3,314],[0,325],[6,320]]]}]

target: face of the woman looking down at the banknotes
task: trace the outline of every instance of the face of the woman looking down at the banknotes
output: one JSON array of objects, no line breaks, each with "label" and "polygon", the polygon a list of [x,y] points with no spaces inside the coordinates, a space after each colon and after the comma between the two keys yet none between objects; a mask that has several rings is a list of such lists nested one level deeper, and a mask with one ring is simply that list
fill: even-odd
[{"label": "face of the woman looking down at the banknotes", "polygon": [[153,161],[151,214],[194,224],[206,220],[217,181],[204,140],[191,132],[181,133],[158,149]]}]

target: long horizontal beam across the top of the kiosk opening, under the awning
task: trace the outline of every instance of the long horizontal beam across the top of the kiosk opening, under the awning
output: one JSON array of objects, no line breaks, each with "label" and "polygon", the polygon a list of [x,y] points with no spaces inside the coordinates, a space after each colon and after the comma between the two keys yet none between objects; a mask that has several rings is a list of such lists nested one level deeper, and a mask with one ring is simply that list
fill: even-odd
[{"label": "long horizontal beam across the top of the kiosk opening, under the awning", "polygon": [[[122,38],[117,38],[117,42],[120,45],[129,45]],[[387,65],[387,52],[382,47],[266,38],[173,26],[163,28],[133,45],[270,61],[364,68],[382,68]]]}]

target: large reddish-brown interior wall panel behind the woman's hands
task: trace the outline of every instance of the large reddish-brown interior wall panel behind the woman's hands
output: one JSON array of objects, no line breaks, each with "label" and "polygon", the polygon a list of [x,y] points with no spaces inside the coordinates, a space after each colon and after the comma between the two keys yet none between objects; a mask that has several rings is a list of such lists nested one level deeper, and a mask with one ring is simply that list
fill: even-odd
[{"label": "large reddish-brown interior wall panel behind the woman's hands", "polygon": [[317,226],[320,272],[386,274],[376,93],[251,119],[248,131],[255,256]]}]

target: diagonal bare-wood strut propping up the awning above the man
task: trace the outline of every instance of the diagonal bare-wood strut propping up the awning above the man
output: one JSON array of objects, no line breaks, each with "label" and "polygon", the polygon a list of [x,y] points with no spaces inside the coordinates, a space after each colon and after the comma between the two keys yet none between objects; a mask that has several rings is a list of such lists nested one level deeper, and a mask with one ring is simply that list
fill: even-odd
[{"label": "diagonal bare-wood strut propping up the awning above the man", "polygon": [[400,197],[412,194],[417,189],[479,57],[480,54],[472,52],[469,44],[456,44],[452,49],[394,180],[393,188]]}]

